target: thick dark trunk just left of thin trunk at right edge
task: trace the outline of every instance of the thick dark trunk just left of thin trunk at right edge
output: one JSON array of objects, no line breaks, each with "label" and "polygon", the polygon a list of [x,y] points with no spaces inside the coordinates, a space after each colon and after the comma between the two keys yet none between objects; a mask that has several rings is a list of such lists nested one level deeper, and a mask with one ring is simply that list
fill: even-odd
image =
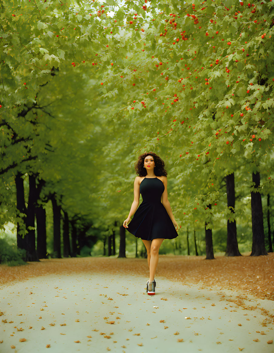
[{"label": "thick dark trunk just left of thin trunk at right edge", "polygon": [[260,173],[253,172],[252,180],[255,183],[255,191],[251,191],[252,251],[250,256],[268,255],[264,246],[262,198],[258,189]]}]

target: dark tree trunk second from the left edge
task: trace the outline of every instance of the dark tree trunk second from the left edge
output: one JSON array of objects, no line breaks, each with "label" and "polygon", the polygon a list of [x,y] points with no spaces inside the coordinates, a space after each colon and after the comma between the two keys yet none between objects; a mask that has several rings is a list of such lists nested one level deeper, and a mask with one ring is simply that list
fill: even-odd
[{"label": "dark tree trunk second from the left edge", "polygon": [[[37,201],[36,195],[36,179],[34,175],[29,174],[29,199],[27,204],[26,217],[26,261],[39,261],[36,253],[35,245],[35,203]],[[33,229],[29,229],[32,227]]]}]

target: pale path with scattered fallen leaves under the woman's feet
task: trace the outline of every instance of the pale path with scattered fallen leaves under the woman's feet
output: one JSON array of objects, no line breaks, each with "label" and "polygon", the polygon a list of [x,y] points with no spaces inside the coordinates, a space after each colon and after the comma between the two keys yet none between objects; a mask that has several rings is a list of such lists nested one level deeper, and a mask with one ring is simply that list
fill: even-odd
[{"label": "pale path with scattered fallen leaves under the woman's feet", "polygon": [[[31,264],[41,275],[2,285],[0,352],[273,353],[272,300],[163,276],[150,297],[147,278],[125,274],[134,259],[93,258],[93,271],[86,259],[75,259],[75,271],[68,270],[74,259]],[[51,273],[57,263],[60,273]],[[135,260],[140,271],[145,265]]]}]

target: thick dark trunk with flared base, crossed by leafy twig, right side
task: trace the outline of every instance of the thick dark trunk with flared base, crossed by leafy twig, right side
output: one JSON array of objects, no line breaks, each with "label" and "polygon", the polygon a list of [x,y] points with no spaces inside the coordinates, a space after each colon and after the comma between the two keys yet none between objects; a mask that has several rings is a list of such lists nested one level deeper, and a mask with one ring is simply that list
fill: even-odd
[{"label": "thick dark trunk with flared base, crossed by leafy twig, right side", "polygon": [[[235,214],[234,173],[226,175],[226,194],[228,199],[228,208],[233,207],[233,209],[230,209],[230,211],[232,214]],[[229,219],[228,219],[227,230],[228,230],[228,236],[226,240],[225,256],[242,256],[238,249],[236,220],[233,220],[233,222],[229,222]]]}]

